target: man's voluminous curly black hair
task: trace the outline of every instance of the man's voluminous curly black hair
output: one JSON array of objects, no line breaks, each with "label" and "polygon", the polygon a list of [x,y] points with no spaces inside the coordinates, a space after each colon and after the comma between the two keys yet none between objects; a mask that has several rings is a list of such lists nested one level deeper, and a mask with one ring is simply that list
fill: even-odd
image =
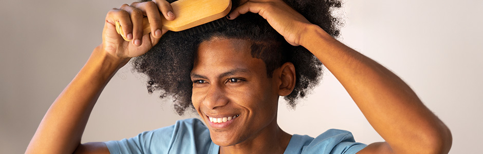
[{"label": "man's voluminous curly black hair", "polygon": [[[172,3],[176,0],[168,1]],[[332,10],[341,7],[340,0],[285,2],[333,37],[339,35],[340,19],[332,15]],[[233,0],[232,4],[234,9],[239,1]],[[191,102],[193,83],[190,73],[199,44],[212,37],[240,38],[251,42],[251,54],[263,60],[269,78],[276,68],[286,62],[293,63],[296,72],[295,88],[285,96],[287,104],[292,108],[322,78],[322,63],[317,57],[302,46],[288,44],[262,16],[254,13],[240,15],[222,26],[195,35],[180,36],[180,32],[166,32],[150,51],[133,59],[133,70],[147,75],[148,93],[160,91],[160,98],[172,97],[174,108],[179,115],[187,108],[195,111]]]}]

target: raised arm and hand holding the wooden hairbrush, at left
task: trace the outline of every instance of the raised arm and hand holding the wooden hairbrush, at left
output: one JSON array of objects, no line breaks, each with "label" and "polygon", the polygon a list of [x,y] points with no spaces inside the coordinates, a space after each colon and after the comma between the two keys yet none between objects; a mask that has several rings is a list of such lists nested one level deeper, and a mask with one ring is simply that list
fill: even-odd
[{"label": "raised arm and hand holding the wooden hairbrush, at left", "polygon": [[[109,153],[101,142],[81,144],[90,112],[116,71],[131,57],[144,54],[159,42],[166,32],[161,29],[160,12],[173,20],[170,11],[171,5],[164,0],[122,5],[120,9],[110,10],[102,44],[92,51],[84,67],[52,103],[25,153]],[[143,14],[151,21],[154,33],[143,35]],[[124,37],[132,41],[124,41],[116,32],[116,21],[123,27]]]}]

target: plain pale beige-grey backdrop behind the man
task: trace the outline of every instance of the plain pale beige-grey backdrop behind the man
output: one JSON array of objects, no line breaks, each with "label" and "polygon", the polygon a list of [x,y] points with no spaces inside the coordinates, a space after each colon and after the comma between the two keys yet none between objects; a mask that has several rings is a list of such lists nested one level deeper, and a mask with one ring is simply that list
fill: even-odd
[{"label": "plain pale beige-grey backdrop behind the man", "polygon": [[[0,153],[23,153],[43,115],[101,43],[109,9],[127,0],[0,0]],[[349,1],[343,43],[400,76],[453,133],[450,153],[483,145],[483,1]],[[171,100],[149,95],[145,78],[122,68],[101,94],[82,142],[120,140],[174,124]],[[283,100],[283,99],[281,99]],[[280,101],[291,134],[330,128],[356,141],[383,141],[341,84],[325,71],[295,110]],[[477,151],[478,150],[478,151]]]}]

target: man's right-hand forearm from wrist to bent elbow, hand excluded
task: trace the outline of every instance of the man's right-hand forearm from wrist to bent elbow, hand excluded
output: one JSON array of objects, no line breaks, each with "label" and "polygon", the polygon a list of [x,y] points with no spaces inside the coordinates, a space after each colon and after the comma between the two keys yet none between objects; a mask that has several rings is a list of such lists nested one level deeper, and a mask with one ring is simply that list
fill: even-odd
[{"label": "man's right-hand forearm from wrist to bent elbow, hand excluded", "polygon": [[317,27],[312,31],[302,38],[302,45],[335,75],[395,153],[422,152],[431,148],[449,151],[451,133],[448,128],[396,74],[322,29]]}]

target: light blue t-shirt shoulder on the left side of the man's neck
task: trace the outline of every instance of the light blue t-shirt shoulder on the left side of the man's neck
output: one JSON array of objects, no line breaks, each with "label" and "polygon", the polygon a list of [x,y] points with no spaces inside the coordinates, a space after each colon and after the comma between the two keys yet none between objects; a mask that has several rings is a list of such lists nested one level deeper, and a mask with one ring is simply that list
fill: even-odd
[{"label": "light blue t-shirt shoulder on the left side of the man's neck", "polygon": [[174,125],[120,141],[105,142],[111,153],[198,153],[208,150],[208,128],[198,119],[176,121]]}]

